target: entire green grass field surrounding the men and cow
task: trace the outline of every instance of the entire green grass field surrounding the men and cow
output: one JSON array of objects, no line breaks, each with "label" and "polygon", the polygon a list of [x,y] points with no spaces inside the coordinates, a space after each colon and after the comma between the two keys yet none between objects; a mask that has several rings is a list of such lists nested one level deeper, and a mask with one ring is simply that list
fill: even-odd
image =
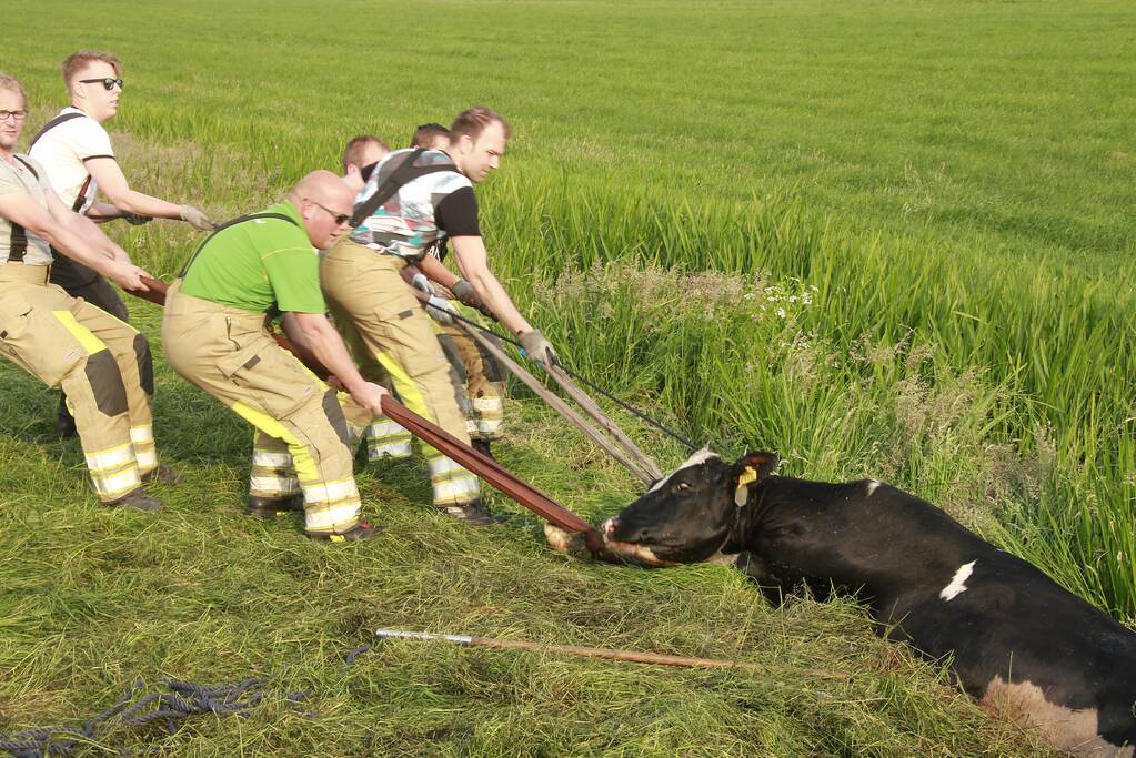
[{"label": "entire green grass field surrounding the men and cow", "polygon": [[[66,19],[65,23],[61,19]],[[494,268],[566,362],[724,453],[875,477],[1136,622],[1136,8],[1126,2],[105,3],[10,0],[0,69],[30,137],[78,47],[125,61],[109,124],[140,189],[257,210],[346,137],[396,146],[488,104]],[[1127,62],[1126,62],[1127,61]],[[114,228],[170,276],[185,225]],[[156,354],[159,313],[131,302]],[[423,507],[361,469],[389,527],[329,549],[241,513],[249,433],[159,362],[157,519],[101,508],[55,397],[0,365],[0,733],[75,724],[141,679],[274,674],[312,694],[169,755],[1036,756],[849,601],[766,605],[721,567],[552,553],[512,514]],[[501,461],[591,520],[636,483],[531,395]],[[633,423],[673,465],[683,452]],[[741,658],[768,674],[386,643],[376,626]],[[851,679],[818,674],[850,674]],[[89,755],[103,755],[91,747]]]}]

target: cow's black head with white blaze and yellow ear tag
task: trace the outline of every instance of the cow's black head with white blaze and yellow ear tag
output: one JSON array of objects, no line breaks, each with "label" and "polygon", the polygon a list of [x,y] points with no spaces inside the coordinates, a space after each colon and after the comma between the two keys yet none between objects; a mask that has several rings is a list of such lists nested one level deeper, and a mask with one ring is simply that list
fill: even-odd
[{"label": "cow's black head with white blaze and yellow ear tag", "polygon": [[777,468],[772,453],[729,464],[702,449],[600,528],[605,547],[652,566],[698,563],[726,544],[749,487]]}]

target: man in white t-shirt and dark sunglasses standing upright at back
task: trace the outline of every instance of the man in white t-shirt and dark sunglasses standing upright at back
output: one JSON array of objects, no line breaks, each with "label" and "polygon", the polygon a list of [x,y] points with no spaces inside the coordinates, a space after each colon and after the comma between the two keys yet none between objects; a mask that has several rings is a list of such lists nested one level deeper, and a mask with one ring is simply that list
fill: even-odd
[{"label": "man in white t-shirt and dark sunglasses standing upright at back", "polygon": [[[76,213],[94,221],[125,218],[131,224],[144,224],[151,218],[181,219],[193,228],[214,228],[208,216],[192,205],[153,197],[132,189],[115,160],[110,136],[103,124],[118,112],[123,93],[122,67],[111,53],[80,50],[62,64],[64,84],[70,95],[70,107],[48,121],[32,141],[28,154],[43,166],[56,194]],[[95,201],[101,189],[110,203]],[[51,283],[73,297],[82,297],[114,317],[128,320],[122,297],[97,271],[56,256]],[[67,412],[66,397],[60,398],[56,431],[61,437],[75,433],[75,420]],[[150,433],[148,430],[136,431]]]}]

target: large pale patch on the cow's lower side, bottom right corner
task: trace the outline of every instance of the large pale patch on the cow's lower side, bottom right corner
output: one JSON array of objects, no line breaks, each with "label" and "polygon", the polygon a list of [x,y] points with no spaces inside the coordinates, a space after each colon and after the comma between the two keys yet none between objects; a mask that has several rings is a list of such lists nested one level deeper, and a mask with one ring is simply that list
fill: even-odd
[{"label": "large pale patch on the cow's lower side, bottom right corner", "polygon": [[982,706],[1019,726],[1037,730],[1050,744],[1077,756],[1131,758],[1133,747],[1112,744],[1097,734],[1096,708],[1066,708],[1051,702],[1033,682],[1006,682],[995,676],[986,685]]}]

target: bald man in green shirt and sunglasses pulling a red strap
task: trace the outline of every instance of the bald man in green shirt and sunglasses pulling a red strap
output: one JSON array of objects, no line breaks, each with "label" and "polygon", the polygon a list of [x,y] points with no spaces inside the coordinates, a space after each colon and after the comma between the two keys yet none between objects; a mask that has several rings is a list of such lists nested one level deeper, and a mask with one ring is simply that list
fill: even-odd
[{"label": "bald man in green shirt and sunglasses pulling a red strap", "polygon": [[352,193],[314,171],[287,200],[222,226],[190,259],[166,298],[161,337],[174,370],[256,428],[249,512],[299,509],[316,539],[362,539],[351,430],[336,391],[272,338],[277,314],[339,377],[362,423],[385,390],[364,380],[328,322],[318,249],[349,228]]}]

